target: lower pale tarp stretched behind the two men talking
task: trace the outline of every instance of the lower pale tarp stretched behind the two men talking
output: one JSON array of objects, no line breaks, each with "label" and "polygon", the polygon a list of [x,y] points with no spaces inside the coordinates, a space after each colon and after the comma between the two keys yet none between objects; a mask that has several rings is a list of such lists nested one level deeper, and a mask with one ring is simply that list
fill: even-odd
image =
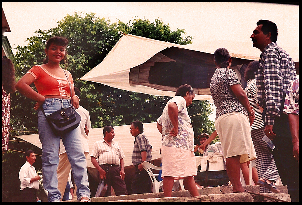
[{"label": "lower pale tarp stretched behind the two men talking", "polygon": [[[152,160],[161,158],[159,154],[159,149],[162,146],[161,140],[162,140],[162,135],[159,133],[159,131],[156,128],[156,122],[152,123],[144,123],[144,134],[149,140],[149,143],[152,146]],[[134,145],[134,137],[131,136],[130,133],[130,125],[122,125],[122,126],[115,126],[114,127],[114,141],[117,141],[120,143],[121,148],[125,154],[124,162],[125,162],[125,167],[126,166],[131,166],[132,161],[131,161],[131,156],[132,156],[132,151],[133,151],[133,145]],[[40,149],[42,149],[42,144],[39,140],[39,135],[38,134],[30,134],[30,135],[21,135],[18,136],[22,140],[25,140]],[[89,150],[92,150],[93,144],[96,141],[103,140],[104,135],[103,135],[103,128],[94,128],[89,131],[88,134],[88,145],[89,145]],[[94,166],[91,163],[91,157],[88,155],[87,157],[87,166],[94,168]]]}]

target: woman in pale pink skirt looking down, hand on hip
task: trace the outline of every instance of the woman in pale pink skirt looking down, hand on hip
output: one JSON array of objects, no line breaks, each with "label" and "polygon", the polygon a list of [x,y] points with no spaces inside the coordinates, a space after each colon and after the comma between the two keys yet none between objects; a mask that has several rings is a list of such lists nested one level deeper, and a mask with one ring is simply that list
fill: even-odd
[{"label": "woman in pale pink skirt looking down, hand on hip", "polygon": [[195,92],[190,85],[178,87],[175,97],[166,104],[157,120],[162,134],[162,178],[165,197],[171,197],[174,180],[183,178],[185,189],[199,196],[194,176],[197,175],[194,155],[194,132],[187,106]]}]

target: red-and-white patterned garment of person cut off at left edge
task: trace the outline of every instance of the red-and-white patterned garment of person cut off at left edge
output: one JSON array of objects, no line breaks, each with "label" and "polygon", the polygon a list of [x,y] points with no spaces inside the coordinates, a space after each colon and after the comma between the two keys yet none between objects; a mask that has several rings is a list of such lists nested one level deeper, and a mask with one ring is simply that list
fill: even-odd
[{"label": "red-and-white patterned garment of person cut off at left edge", "polygon": [[3,90],[2,85],[2,152],[8,150],[9,115],[11,112],[10,93]]}]

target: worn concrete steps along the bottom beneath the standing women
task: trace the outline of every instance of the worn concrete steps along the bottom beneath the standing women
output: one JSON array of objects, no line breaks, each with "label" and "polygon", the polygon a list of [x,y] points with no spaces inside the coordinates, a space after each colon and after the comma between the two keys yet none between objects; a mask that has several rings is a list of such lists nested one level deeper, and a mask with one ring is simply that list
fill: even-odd
[{"label": "worn concrete steps along the bottom beneath the standing women", "polygon": [[[107,202],[107,201],[133,201],[133,202],[164,202],[164,201],[179,201],[179,202],[193,202],[193,201],[208,201],[208,202],[226,202],[226,201],[249,201],[249,202],[263,202],[263,201],[276,201],[269,197],[276,198],[284,201],[291,201],[288,194],[287,186],[276,186],[279,190],[279,194],[264,194],[267,197],[258,196],[249,193],[233,193],[232,186],[219,186],[219,187],[207,187],[199,188],[198,197],[192,197],[187,190],[173,191],[172,197],[164,197],[164,193],[149,193],[149,194],[130,194],[122,196],[111,196],[111,197],[92,197],[92,202]],[[257,186],[243,186],[247,191],[253,193],[259,193],[260,187]],[[76,201],[71,200],[69,202]]]}]

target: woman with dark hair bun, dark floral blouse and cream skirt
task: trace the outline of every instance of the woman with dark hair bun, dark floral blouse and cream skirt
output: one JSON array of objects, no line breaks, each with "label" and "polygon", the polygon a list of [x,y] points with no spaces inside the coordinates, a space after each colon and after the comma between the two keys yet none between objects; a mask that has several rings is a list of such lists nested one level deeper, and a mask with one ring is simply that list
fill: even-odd
[{"label": "woman with dark hair bun, dark floral blouse and cream skirt", "polygon": [[232,59],[225,48],[214,52],[217,69],[211,79],[210,92],[216,106],[215,128],[226,159],[226,172],[233,192],[244,192],[240,182],[240,164],[256,159],[251,137],[255,111],[249,104],[241,83],[231,67]]}]

